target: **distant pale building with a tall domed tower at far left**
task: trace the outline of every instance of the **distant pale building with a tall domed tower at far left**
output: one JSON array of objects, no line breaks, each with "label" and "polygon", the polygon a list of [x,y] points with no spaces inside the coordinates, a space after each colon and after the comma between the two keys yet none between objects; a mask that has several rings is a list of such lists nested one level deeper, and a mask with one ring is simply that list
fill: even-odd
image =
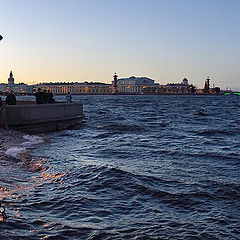
[{"label": "distant pale building with a tall domed tower at far left", "polygon": [[17,94],[31,94],[33,93],[33,87],[25,83],[14,83],[14,77],[12,71],[9,74],[8,84],[0,84],[0,92],[7,93],[13,90]]}]

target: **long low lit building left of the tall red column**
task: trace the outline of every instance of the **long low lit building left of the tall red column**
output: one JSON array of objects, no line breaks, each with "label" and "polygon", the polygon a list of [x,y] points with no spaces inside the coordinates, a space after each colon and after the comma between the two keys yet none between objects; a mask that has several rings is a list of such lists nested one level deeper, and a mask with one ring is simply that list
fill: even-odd
[{"label": "long low lit building left of the tall red column", "polygon": [[50,90],[55,94],[92,94],[92,95],[105,95],[112,94],[112,85],[97,82],[84,82],[84,83],[41,83],[34,86],[35,91],[37,88],[42,90]]}]

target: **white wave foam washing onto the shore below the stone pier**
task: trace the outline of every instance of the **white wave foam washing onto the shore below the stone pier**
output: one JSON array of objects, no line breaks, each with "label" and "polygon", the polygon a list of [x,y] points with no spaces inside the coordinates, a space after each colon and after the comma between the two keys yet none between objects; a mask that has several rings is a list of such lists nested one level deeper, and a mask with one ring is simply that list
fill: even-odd
[{"label": "white wave foam washing onto the shore below the stone pier", "polygon": [[9,157],[18,159],[19,153],[24,152],[27,148],[32,148],[36,144],[41,144],[44,142],[44,139],[39,136],[30,136],[24,135],[23,138],[27,141],[23,142],[20,147],[9,148],[5,154]]}]

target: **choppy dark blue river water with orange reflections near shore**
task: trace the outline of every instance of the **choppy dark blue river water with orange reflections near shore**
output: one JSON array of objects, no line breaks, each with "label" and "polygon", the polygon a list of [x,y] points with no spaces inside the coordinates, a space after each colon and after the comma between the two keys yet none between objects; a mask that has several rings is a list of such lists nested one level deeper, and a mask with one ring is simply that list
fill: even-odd
[{"label": "choppy dark blue river water with orange reflections near shore", "polygon": [[239,96],[73,98],[85,123],[3,164],[1,239],[240,239]]}]

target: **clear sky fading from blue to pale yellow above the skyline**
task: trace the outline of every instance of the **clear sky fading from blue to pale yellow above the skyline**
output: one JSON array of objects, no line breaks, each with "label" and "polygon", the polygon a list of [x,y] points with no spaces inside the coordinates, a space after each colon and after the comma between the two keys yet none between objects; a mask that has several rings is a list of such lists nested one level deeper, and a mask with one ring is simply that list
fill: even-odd
[{"label": "clear sky fading from blue to pale yellow above the skyline", "polygon": [[160,84],[207,76],[240,90],[239,0],[0,0],[0,83]]}]

